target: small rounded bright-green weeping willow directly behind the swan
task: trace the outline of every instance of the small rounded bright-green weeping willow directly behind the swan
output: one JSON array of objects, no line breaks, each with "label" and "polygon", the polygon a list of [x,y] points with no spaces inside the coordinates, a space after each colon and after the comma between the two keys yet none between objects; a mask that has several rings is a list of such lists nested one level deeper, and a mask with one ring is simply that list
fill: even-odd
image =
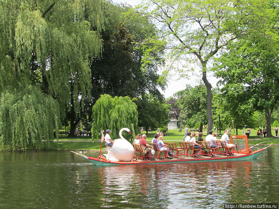
[{"label": "small rounded bright-green weeping willow directly behind the swan", "polygon": [[[92,139],[100,139],[100,130],[110,129],[112,139],[118,137],[121,128],[132,130],[137,127],[137,106],[128,96],[112,98],[108,94],[101,95],[92,108]],[[124,136],[123,132],[123,136]]]}]

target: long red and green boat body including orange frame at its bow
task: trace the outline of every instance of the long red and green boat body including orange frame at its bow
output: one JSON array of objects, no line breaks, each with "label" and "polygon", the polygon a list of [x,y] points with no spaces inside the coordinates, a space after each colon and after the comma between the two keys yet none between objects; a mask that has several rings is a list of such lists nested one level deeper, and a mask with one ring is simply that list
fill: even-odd
[{"label": "long red and green boat body including orange frame at its bow", "polygon": [[[230,136],[231,142],[232,139],[244,139],[245,140],[245,148],[234,150],[232,156],[227,155],[217,155],[216,157],[210,157],[210,156],[201,156],[200,158],[193,158],[189,156],[184,156],[183,158],[173,158],[173,159],[156,159],[154,161],[146,161],[141,159],[132,159],[131,161],[112,161],[104,158],[103,156],[99,155],[98,158],[89,157],[86,155],[83,155],[81,153],[77,153],[75,151],[70,150],[74,154],[80,155],[84,157],[85,159],[89,160],[91,163],[98,165],[98,166],[113,166],[113,165],[140,165],[140,164],[169,164],[169,163],[197,163],[197,162],[213,162],[213,161],[234,161],[234,160],[253,160],[256,159],[259,155],[263,153],[264,150],[266,150],[269,146],[272,145],[272,142],[267,147],[261,148],[259,150],[253,151],[252,148],[259,144],[263,144],[266,142],[261,142],[259,144],[256,144],[254,146],[249,147],[248,146],[248,140],[246,135],[237,135],[237,136]],[[237,143],[236,143],[236,146]]]}]

